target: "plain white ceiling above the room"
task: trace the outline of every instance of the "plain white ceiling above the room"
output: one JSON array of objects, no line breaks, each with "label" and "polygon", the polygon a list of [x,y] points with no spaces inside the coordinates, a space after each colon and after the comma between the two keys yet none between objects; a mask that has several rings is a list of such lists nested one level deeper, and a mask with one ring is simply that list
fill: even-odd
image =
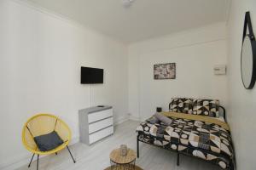
[{"label": "plain white ceiling above the room", "polygon": [[138,42],[227,20],[230,0],[26,0],[122,42]]}]

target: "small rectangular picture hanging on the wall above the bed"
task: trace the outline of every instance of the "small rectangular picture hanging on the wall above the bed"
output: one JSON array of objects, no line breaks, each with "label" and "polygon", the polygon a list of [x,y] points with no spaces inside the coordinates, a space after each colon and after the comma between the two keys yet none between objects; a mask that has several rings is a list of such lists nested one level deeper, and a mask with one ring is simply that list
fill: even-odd
[{"label": "small rectangular picture hanging on the wall above the bed", "polygon": [[154,65],[154,80],[175,79],[176,63]]}]

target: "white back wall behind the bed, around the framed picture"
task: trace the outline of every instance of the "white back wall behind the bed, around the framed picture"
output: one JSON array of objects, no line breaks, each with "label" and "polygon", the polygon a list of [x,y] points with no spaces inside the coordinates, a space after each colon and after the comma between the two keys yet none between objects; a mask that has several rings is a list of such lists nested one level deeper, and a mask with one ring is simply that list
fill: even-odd
[{"label": "white back wall behind the bed, around the framed picture", "polygon": [[[153,65],[176,63],[175,80],[154,80]],[[167,110],[172,97],[220,99],[227,105],[227,77],[215,76],[213,66],[226,64],[225,24],[182,31],[129,47],[129,113],[133,119]]]}]

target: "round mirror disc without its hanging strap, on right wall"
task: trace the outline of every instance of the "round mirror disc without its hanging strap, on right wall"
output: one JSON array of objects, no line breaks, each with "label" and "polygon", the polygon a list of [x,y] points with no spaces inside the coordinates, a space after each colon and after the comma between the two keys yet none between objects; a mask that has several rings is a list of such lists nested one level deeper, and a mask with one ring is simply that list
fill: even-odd
[{"label": "round mirror disc without its hanging strap, on right wall", "polygon": [[253,52],[253,40],[249,35],[243,38],[241,48],[241,79],[247,89],[251,89],[255,83],[255,52]]}]

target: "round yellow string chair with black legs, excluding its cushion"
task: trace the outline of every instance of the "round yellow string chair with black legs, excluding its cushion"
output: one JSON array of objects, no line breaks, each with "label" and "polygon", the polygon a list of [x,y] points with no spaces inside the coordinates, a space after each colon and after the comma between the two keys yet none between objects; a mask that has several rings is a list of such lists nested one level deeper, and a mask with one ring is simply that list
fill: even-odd
[{"label": "round yellow string chair with black legs, excluding its cushion", "polygon": [[[57,146],[53,150],[42,151],[38,149],[38,145],[36,144],[34,138],[49,134],[52,132],[56,132],[59,137],[63,140],[63,144]],[[49,115],[49,114],[38,114],[36,116],[32,116],[24,125],[22,130],[22,142],[25,145],[26,149],[32,152],[32,159],[28,165],[31,166],[33,157],[38,155],[38,162],[39,162],[39,155],[49,155],[54,154],[57,155],[57,152],[63,150],[67,147],[67,150],[70,156],[73,159],[73,162],[76,161],[73,158],[71,151],[69,150],[67,144],[71,139],[71,131],[67,124],[61,121],[60,118]],[[38,162],[37,162],[37,169],[38,169]]]}]

